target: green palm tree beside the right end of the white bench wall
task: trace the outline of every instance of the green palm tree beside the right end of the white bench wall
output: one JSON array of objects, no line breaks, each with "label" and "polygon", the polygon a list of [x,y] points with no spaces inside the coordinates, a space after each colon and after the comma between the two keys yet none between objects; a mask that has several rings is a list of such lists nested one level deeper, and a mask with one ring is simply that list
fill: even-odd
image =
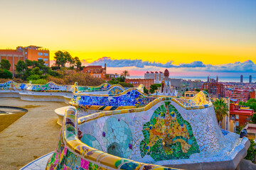
[{"label": "green palm tree beside the right end of the white bench wall", "polygon": [[217,121],[220,125],[220,122],[223,120],[225,115],[228,115],[228,103],[225,103],[225,101],[220,98],[220,100],[217,99],[215,102],[213,102],[213,106]]}]

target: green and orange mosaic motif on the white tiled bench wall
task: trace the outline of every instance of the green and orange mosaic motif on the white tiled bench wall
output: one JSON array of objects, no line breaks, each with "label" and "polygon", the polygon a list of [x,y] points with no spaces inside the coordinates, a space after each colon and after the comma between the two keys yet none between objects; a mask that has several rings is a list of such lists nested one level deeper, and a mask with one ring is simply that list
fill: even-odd
[{"label": "green and orange mosaic motif on the white tiled bench wall", "polygon": [[188,159],[191,154],[200,152],[191,125],[170,103],[156,108],[149,122],[144,124],[144,140],[140,143],[142,157],[148,154],[155,161]]}]

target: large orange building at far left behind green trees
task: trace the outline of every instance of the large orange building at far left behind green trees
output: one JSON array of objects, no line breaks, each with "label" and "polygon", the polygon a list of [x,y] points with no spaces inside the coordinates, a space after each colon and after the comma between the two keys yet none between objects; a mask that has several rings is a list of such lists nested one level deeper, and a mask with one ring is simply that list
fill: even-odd
[{"label": "large orange building at far left behind green trees", "polygon": [[10,72],[15,72],[15,64],[18,60],[32,60],[38,61],[43,60],[46,66],[50,66],[50,51],[38,47],[35,45],[30,45],[28,47],[16,47],[16,50],[0,50],[0,61],[2,59],[9,60],[11,63]]}]

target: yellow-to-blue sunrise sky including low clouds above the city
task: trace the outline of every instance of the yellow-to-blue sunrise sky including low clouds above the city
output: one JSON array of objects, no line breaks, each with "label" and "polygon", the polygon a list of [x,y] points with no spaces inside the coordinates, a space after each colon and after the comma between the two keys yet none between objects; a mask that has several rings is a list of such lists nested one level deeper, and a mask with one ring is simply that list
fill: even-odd
[{"label": "yellow-to-blue sunrise sky including low clouds above the city", "polygon": [[0,1],[0,49],[66,50],[109,72],[255,72],[256,1]]}]

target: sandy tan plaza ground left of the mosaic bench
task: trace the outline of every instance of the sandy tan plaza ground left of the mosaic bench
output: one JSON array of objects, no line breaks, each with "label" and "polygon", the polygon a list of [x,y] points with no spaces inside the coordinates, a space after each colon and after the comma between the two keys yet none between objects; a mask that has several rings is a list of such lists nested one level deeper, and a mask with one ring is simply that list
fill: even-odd
[{"label": "sandy tan plaza ground left of the mosaic bench", "polygon": [[67,104],[0,98],[0,106],[28,110],[28,113],[0,132],[0,169],[20,169],[57,147],[60,125],[56,123],[58,116],[54,110]]}]

